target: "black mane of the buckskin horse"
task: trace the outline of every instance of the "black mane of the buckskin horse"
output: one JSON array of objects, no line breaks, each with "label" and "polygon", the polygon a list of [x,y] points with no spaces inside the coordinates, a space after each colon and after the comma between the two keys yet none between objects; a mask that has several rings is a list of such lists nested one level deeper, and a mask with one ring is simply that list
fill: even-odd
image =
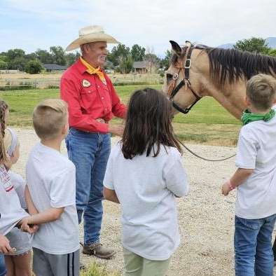
[{"label": "black mane of the buckskin horse", "polygon": [[[186,47],[182,53],[185,53]],[[220,85],[228,81],[233,83],[238,78],[247,81],[256,74],[275,74],[276,57],[261,55],[258,53],[242,52],[235,49],[222,49],[207,47],[203,49],[209,57],[210,76]],[[177,55],[173,55],[172,63],[177,61]]]}]

